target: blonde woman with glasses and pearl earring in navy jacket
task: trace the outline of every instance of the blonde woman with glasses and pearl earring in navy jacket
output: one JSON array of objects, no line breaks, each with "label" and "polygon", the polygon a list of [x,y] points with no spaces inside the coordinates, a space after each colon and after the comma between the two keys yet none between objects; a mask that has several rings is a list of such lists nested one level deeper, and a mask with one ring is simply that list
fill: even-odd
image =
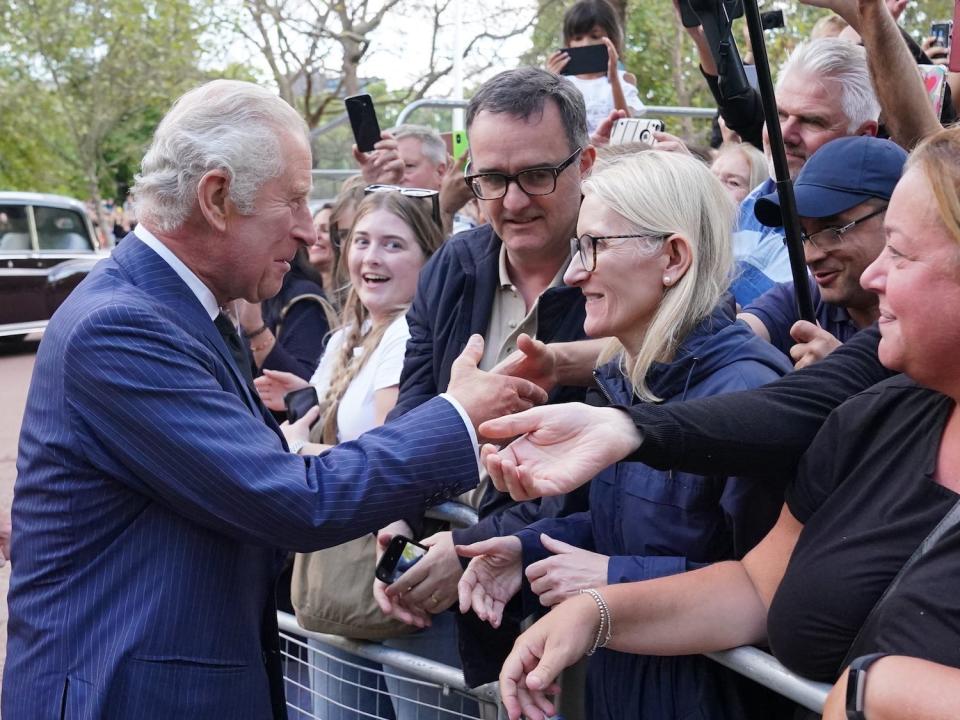
[{"label": "blonde woman with glasses and pearl earring in navy jacket", "polygon": [[[734,319],[725,295],[734,206],[702,163],[656,150],[624,156],[583,192],[564,280],[586,297],[587,334],[612,338],[595,371],[595,403],[681,401],[789,371]],[[781,498],[769,481],[618,463],[593,479],[589,512],[461,548],[474,556],[461,609],[497,624],[521,590],[521,568],[524,599],[553,606],[581,590],[741,557],[774,523]],[[749,716],[751,694],[705,658],[599,650],[587,672],[590,718]]]}]

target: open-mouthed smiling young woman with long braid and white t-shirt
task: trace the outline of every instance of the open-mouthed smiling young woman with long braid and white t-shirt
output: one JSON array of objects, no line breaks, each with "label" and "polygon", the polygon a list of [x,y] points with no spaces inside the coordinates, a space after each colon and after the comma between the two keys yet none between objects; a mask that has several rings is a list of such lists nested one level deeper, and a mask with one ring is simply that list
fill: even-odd
[{"label": "open-mouthed smiling young woman with long braid and white t-shirt", "polygon": [[[396,404],[410,337],[405,313],[413,300],[420,268],[443,241],[427,208],[422,200],[392,192],[367,195],[357,206],[353,226],[341,248],[340,266],[346,270],[350,285],[340,314],[340,328],[330,336],[310,379],[310,384],[317,388],[320,405],[299,422],[282,426],[291,451],[318,454],[338,442],[353,440],[382,425]],[[307,387],[307,382],[288,373],[269,373],[257,379],[260,396],[271,409],[283,409],[283,396],[301,387]],[[349,618],[336,614],[339,611],[333,608],[337,603],[323,601],[325,588],[309,587],[319,577],[314,569],[330,562],[329,555],[322,559],[319,556],[340,550],[332,548],[297,556],[294,585],[303,583],[302,594],[309,598],[311,606],[319,606],[315,616],[325,623],[325,632],[335,626],[342,628],[338,634],[348,637],[370,638],[365,633],[374,630],[382,635],[385,630],[381,626],[357,627],[363,622],[361,612]],[[366,568],[366,574],[358,574],[363,576],[364,587],[370,592],[375,561],[372,543],[368,550],[369,567],[354,564]],[[360,551],[353,547],[351,552]],[[346,577],[340,574],[341,579]],[[355,580],[361,582],[359,577]],[[319,581],[316,584],[322,585]],[[333,587],[326,591],[337,592]],[[370,604],[372,607],[372,600]],[[294,605],[297,606],[296,597]],[[298,607],[301,624],[310,627],[311,620],[304,618],[303,612],[304,608]],[[317,651],[310,653],[310,685],[316,693],[313,711],[318,717],[355,717],[357,710],[376,717],[394,717],[384,680],[377,675],[381,670],[378,663],[310,642]]]}]

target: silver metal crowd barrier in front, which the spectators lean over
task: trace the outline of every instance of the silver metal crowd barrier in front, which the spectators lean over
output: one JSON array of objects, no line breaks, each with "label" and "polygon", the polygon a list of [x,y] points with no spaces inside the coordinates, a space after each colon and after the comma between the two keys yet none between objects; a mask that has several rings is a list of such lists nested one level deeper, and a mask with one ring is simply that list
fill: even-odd
[{"label": "silver metal crowd barrier in front, which the spectators lean over", "polygon": [[[468,527],[477,522],[477,512],[473,508],[458,502],[445,502],[427,511],[427,515],[436,520],[444,520],[456,527]],[[314,712],[318,700],[329,704],[329,698],[323,696],[320,688],[311,687],[311,671],[313,677],[335,675],[330,681],[347,683],[359,691],[361,685],[367,692],[376,687],[377,682],[371,682],[373,676],[383,679],[389,678],[394,686],[402,684],[406,697],[413,700],[402,702],[410,705],[402,714],[403,720],[420,718],[429,720],[453,720],[454,718],[476,718],[477,720],[503,720],[506,718],[500,707],[500,696],[496,683],[490,683],[480,688],[470,688],[463,680],[460,670],[427,660],[418,655],[388,648],[376,642],[350,640],[336,635],[324,635],[304,630],[297,624],[293,615],[277,613],[277,623],[280,627],[280,636],[286,641],[285,678],[287,688],[287,706],[291,720],[329,720],[319,717]],[[334,657],[309,647],[308,639],[320,640],[326,645],[344,650],[374,663],[380,663],[383,670],[372,670],[350,663],[343,658]],[[316,659],[324,657],[324,667],[318,667]],[[830,685],[813,682],[785,668],[769,653],[755,647],[739,647],[732,650],[707,653],[707,657],[715,662],[730,668],[755,682],[770,688],[774,692],[790,698],[794,702],[813,710],[822,712],[823,703],[827,699]],[[331,668],[339,668],[336,674]],[[346,678],[347,675],[366,675],[366,681]],[[381,687],[383,684],[381,683]],[[429,691],[436,697],[437,693],[445,701],[443,706],[420,699],[420,692]],[[349,714],[343,717],[375,718],[379,720],[394,720],[390,693],[383,691],[382,703],[378,703],[376,713],[363,712],[356,707],[349,707],[342,703],[338,707]],[[450,699],[456,702],[451,703]],[[341,696],[342,701],[342,696]],[[454,705],[454,708],[451,708]],[[329,705],[328,705],[329,706]]]}]

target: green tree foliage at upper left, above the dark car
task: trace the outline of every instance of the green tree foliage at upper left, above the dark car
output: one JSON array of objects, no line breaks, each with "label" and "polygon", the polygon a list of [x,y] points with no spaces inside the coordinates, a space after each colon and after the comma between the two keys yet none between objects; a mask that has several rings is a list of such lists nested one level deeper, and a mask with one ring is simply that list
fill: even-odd
[{"label": "green tree foliage at upper left, above the dark car", "polygon": [[0,4],[0,183],[115,195],[162,112],[203,76],[205,12],[197,0]]}]

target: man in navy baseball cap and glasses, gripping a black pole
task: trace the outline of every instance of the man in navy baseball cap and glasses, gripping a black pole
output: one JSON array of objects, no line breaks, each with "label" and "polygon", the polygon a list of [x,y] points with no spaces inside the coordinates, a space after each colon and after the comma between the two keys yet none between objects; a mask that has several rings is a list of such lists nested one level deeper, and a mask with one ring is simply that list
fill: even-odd
[{"label": "man in navy baseball cap and glasses, gripping a black pole", "polygon": [[[877,297],[860,275],[883,249],[883,213],[907,153],[867,135],[823,145],[794,182],[803,253],[818,325],[800,320],[793,283],[780,283],[743,309],[754,332],[804,367],[877,319]],[[776,192],[759,198],[757,220],[783,225]]]}]

